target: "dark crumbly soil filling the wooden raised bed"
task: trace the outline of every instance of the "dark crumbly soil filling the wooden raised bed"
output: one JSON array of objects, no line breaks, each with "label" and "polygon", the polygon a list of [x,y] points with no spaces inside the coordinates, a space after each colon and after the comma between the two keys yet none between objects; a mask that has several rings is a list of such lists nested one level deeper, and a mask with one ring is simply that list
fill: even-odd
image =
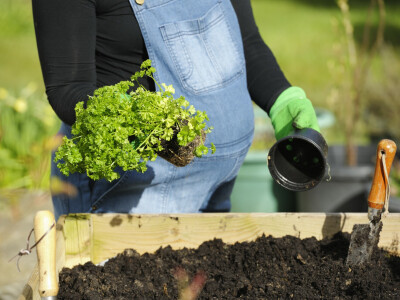
[{"label": "dark crumbly soil filling the wooden raised bed", "polygon": [[189,281],[204,274],[199,299],[400,299],[400,257],[376,249],[373,263],[349,268],[349,241],[339,233],[322,241],[262,236],[227,245],[215,239],[198,249],[144,255],[129,249],[104,267],[88,262],[63,269],[58,299],[178,299],[182,269]]}]

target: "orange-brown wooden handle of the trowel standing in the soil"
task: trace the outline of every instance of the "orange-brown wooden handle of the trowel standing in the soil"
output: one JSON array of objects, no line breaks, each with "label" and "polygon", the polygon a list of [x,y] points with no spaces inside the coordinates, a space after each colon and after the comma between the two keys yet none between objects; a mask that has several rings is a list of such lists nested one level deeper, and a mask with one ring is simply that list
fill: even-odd
[{"label": "orange-brown wooden handle of the trowel standing in the soil", "polygon": [[386,170],[389,176],[393,159],[396,155],[396,144],[392,140],[381,140],[376,151],[375,174],[368,196],[368,207],[382,210],[385,204],[386,186],[389,182],[385,178],[382,167],[382,155],[385,154]]}]

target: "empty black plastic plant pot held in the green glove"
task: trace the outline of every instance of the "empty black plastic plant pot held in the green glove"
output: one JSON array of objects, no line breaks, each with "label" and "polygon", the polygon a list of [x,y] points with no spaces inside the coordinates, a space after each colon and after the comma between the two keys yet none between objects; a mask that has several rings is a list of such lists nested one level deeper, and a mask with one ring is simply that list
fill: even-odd
[{"label": "empty black plastic plant pot held in the green glove", "polygon": [[296,130],[277,141],[268,153],[272,178],[292,191],[307,191],[325,177],[328,145],[316,130]]}]

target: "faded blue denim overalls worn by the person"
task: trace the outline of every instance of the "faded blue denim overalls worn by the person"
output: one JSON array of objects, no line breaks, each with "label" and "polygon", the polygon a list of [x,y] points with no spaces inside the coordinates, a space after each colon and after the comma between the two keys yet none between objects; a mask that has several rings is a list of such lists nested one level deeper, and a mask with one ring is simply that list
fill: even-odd
[{"label": "faded blue denim overalls worn by the person", "polygon": [[[137,3],[138,2],[138,3]],[[76,196],[53,195],[55,215],[90,213],[227,212],[230,194],[253,139],[240,28],[230,0],[130,0],[159,83],[172,84],[214,127],[206,145],[216,153],[175,167],[162,158],[145,173],[119,171],[113,182],[85,174],[53,176],[74,185]],[[142,3],[142,4],[140,4]],[[62,125],[60,133],[71,135]]]}]

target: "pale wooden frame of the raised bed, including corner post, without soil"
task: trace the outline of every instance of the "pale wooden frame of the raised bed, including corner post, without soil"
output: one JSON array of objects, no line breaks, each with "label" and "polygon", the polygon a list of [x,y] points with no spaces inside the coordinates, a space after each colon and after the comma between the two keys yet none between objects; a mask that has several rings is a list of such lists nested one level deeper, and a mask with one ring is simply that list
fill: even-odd
[{"label": "pale wooden frame of the raised bed, including corner post, without soil", "polygon": [[[77,214],[57,222],[57,270],[89,260],[102,262],[126,248],[154,252],[196,248],[221,238],[226,243],[252,241],[262,234],[299,238],[331,237],[368,223],[365,213],[223,213],[176,215]],[[379,247],[400,255],[400,213],[383,218]],[[19,300],[40,300],[38,271],[34,269]]]}]

